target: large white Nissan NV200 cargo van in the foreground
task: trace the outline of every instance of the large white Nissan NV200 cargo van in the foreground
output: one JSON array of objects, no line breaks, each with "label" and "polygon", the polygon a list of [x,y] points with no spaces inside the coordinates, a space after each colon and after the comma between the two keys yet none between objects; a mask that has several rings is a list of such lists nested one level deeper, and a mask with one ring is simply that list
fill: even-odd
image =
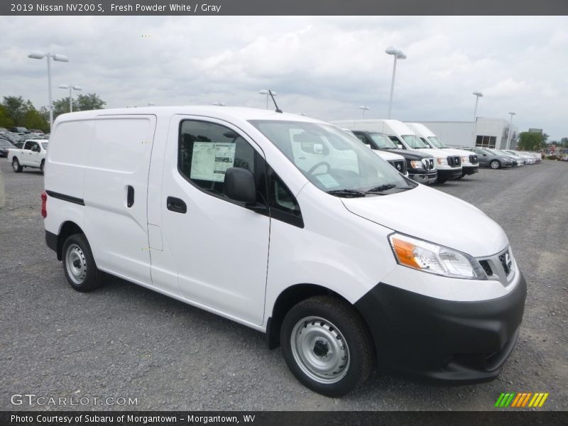
[{"label": "large white Nissan NV200 cargo van in the foreground", "polygon": [[72,288],[104,271],[264,332],[324,395],[374,366],[491,380],[523,318],[525,280],[498,224],[304,116],[63,114],[42,198]]}]

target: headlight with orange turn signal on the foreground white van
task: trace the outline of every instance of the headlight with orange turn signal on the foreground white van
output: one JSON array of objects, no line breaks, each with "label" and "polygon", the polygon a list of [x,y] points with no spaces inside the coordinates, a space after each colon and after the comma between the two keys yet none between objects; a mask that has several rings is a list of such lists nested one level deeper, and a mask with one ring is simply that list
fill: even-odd
[{"label": "headlight with orange turn signal on the foreground white van", "polygon": [[452,278],[487,279],[479,262],[466,253],[401,234],[388,239],[400,265]]}]

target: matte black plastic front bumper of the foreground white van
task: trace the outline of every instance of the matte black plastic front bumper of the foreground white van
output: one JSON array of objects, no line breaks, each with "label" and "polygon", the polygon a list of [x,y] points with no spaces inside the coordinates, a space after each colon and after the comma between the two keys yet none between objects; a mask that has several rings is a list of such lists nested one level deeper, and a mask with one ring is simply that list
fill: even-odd
[{"label": "matte black plastic front bumper of the foreground white van", "polygon": [[450,384],[496,378],[518,337],[527,286],[479,302],[453,302],[378,283],[355,307],[376,346],[378,367]]}]

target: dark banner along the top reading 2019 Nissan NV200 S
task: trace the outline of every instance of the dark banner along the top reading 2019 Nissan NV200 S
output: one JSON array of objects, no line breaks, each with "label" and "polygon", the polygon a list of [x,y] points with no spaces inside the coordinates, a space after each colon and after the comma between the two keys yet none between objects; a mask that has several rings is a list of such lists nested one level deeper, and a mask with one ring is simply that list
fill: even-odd
[{"label": "dark banner along the top reading 2019 Nissan NV200 S", "polygon": [[4,0],[11,16],[566,15],[566,0]]}]

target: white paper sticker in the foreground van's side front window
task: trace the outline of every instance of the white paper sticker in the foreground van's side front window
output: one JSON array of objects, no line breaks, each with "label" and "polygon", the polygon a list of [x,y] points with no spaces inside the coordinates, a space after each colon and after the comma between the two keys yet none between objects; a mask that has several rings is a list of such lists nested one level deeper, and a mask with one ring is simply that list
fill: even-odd
[{"label": "white paper sticker in the foreground van's side front window", "polygon": [[223,182],[226,169],[234,167],[234,143],[194,142],[190,179]]}]

